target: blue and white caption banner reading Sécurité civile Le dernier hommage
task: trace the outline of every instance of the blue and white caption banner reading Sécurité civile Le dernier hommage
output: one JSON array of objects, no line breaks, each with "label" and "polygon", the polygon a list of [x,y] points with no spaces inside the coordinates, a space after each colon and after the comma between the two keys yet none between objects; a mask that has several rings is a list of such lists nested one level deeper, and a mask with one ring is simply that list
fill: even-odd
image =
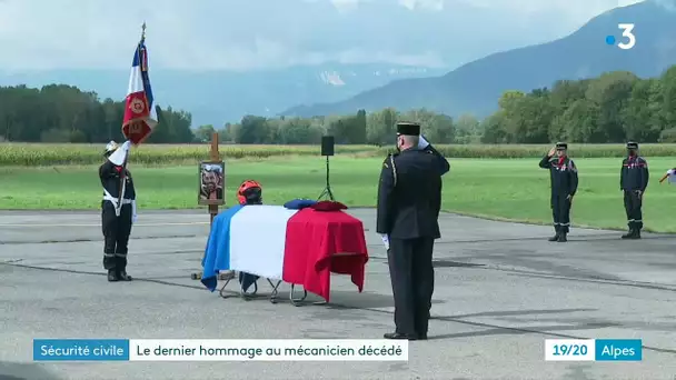
[{"label": "blue and white caption banner reading S\u00e9curit\u00e9 civile Le dernier hommage", "polygon": [[408,341],[34,339],[33,361],[407,361]]}]

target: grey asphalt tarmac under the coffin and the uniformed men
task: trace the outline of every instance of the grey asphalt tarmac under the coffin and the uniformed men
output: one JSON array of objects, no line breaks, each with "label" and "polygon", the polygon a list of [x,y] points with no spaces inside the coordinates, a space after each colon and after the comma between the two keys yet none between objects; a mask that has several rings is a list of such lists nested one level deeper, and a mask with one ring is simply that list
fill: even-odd
[{"label": "grey asphalt tarmac under the coffin and the uniformed men", "polygon": [[[141,210],[142,211],[142,210]],[[392,297],[374,210],[366,288],[332,279],[331,303],[245,301],[207,291],[208,214],[141,212],[129,274],[109,283],[97,212],[0,213],[0,379],[676,379],[676,236],[443,214],[428,341],[408,362],[32,361],[34,338],[381,339]],[[235,286],[231,286],[236,290]],[[260,292],[269,292],[261,282]],[[545,339],[642,339],[640,362],[547,362]]]}]

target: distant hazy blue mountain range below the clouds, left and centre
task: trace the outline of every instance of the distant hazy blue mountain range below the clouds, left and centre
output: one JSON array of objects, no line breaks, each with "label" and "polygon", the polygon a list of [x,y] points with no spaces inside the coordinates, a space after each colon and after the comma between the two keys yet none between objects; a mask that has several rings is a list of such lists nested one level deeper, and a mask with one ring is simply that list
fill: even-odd
[{"label": "distant hazy blue mountain range below the clouds, left and centre", "polygon": [[[438,76],[441,69],[425,67],[325,63],[278,70],[228,72],[186,72],[150,68],[155,99],[160,106],[185,109],[192,114],[192,126],[239,121],[243,114],[275,117],[298,103],[338,101],[392,80]],[[123,99],[129,70],[49,70],[2,74],[0,86],[24,83],[41,87],[66,83],[101,98]]]}]

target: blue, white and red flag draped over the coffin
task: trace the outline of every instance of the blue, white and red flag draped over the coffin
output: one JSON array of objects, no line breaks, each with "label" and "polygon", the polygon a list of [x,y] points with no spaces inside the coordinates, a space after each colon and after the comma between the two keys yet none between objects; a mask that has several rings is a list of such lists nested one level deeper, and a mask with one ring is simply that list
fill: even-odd
[{"label": "blue, white and red flag draped over the coffin", "polygon": [[216,289],[222,270],[302,286],[329,301],[330,273],[364,289],[368,251],[361,221],[336,211],[235,206],[213,219],[202,259],[202,283]]}]

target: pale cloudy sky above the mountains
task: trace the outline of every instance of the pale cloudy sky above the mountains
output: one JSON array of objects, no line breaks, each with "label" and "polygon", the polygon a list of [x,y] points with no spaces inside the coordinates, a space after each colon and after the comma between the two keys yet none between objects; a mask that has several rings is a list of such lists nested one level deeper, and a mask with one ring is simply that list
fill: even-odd
[{"label": "pale cloudy sky above the mountains", "polygon": [[0,70],[128,68],[143,20],[151,66],[166,69],[251,70],[327,60],[454,67],[564,37],[635,2],[0,0]]}]

